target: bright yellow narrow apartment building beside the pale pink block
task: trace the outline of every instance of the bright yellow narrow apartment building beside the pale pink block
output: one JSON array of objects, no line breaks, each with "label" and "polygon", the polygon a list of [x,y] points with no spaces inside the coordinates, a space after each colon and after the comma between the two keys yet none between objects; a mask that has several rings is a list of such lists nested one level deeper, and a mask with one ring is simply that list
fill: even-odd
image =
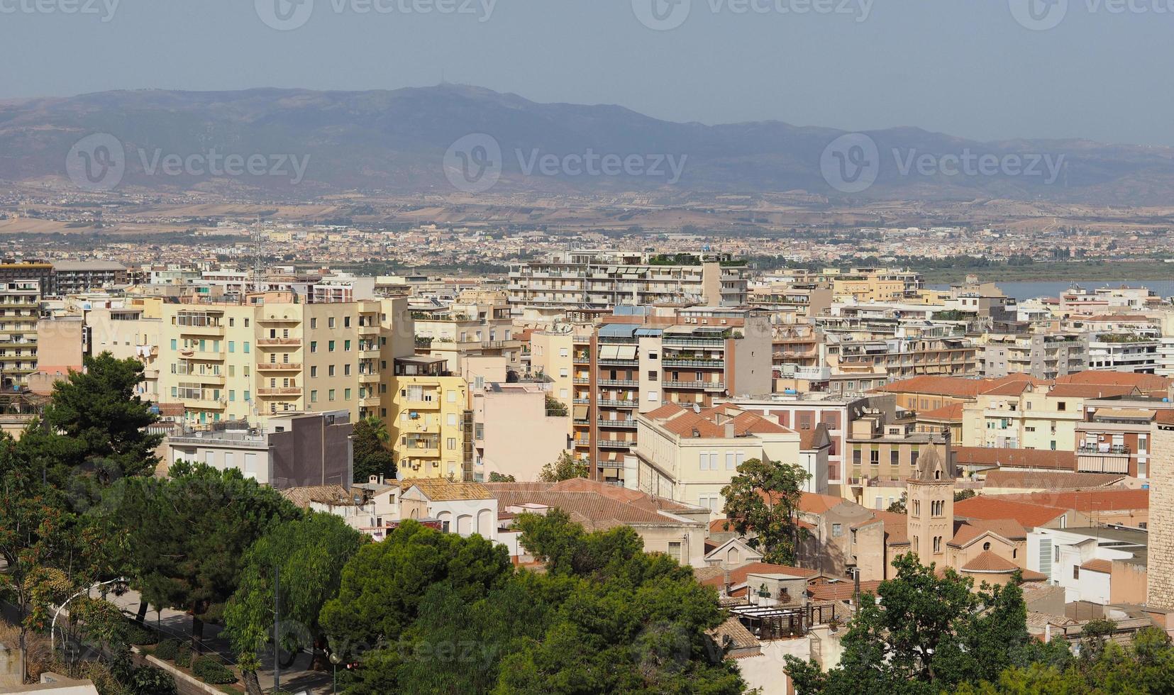
[{"label": "bright yellow narrow apartment building beside the pale pink block", "polygon": [[444,357],[394,359],[389,405],[392,453],[409,478],[474,477],[474,414],[464,377]]}]

